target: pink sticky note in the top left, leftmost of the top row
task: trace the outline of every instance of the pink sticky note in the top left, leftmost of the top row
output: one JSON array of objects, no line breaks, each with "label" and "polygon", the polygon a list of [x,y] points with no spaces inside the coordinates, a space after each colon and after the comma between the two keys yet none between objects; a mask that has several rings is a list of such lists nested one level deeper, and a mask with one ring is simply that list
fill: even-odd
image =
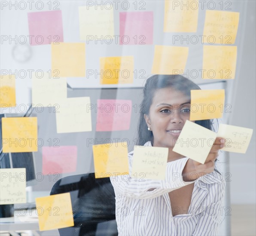
[{"label": "pink sticky note in the top left, leftmost of the top row", "polygon": [[61,10],[27,13],[31,45],[63,42]]}]

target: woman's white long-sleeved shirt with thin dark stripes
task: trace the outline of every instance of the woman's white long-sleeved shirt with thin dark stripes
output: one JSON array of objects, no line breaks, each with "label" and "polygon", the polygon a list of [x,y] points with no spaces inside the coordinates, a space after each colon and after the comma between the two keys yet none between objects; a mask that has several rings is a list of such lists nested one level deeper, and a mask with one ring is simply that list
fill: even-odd
[{"label": "woman's white long-sleeved shirt with thin dark stripes", "polygon": [[[145,146],[152,146],[146,142]],[[119,235],[217,235],[222,221],[225,181],[216,171],[184,182],[182,171],[188,157],[167,163],[165,180],[131,175],[133,151],[128,154],[130,175],[111,179],[116,195]],[[172,215],[168,193],[194,184],[187,214]],[[185,209],[184,209],[185,212]]]}]

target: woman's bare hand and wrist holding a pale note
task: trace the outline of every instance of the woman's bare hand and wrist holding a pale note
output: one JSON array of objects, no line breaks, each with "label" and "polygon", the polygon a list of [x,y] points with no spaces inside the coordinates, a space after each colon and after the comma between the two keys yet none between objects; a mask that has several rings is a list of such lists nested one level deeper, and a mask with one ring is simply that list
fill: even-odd
[{"label": "woman's bare hand and wrist holding a pale note", "polygon": [[207,156],[204,164],[201,164],[195,160],[189,158],[186,166],[183,169],[182,175],[184,181],[193,181],[201,177],[202,175],[213,172],[214,162],[218,157],[219,149],[224,147],[225,139],[217,137],[210,149],[210,153]]}]

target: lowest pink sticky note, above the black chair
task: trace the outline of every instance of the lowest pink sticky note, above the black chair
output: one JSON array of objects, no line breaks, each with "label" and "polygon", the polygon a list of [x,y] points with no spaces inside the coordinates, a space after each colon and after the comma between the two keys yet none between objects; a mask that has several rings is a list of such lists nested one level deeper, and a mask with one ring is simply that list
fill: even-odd
[{"label": "lowest pink sticky note, above the black chair", "polygon": [[76,171],[77,147],[42,147],[43,175]]}]

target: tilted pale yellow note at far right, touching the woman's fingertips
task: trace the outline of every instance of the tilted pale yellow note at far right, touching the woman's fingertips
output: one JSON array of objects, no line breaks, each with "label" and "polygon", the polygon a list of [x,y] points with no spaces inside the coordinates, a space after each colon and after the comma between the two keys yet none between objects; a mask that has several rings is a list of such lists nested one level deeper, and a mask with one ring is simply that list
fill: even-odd
[{"label": "tilted pale yellow note at far right, touching the woman's fingertips", "polygon": [[221,150],[246,153],[253,135],[253,129],[229,124],[219,124],[217,135],[225,139],[225,146]]}]

